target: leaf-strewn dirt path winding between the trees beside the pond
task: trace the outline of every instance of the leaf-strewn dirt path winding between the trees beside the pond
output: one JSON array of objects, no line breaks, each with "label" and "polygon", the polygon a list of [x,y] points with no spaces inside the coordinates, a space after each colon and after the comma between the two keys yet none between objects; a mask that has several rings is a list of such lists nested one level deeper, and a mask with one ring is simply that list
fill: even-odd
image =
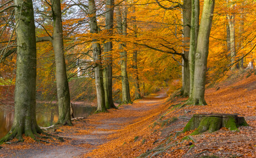
[{"label": "leaf-strewn dirt path winding between the trees beside the pond", "polygon": [[0,157],[83,157],[82,155],[96,149],[99,145],[116,139],[108,138],[117,130],[140,121],[163,105],[167,97],[166,91],[151,94],[133,104],[122,105],[118,110],[99,113],[88,118],[73,121],[73,126],[62,126],[55,134],[64,137],[65,142],[58,145],[28,144],[25,142],[9,145],[0,150]]}]

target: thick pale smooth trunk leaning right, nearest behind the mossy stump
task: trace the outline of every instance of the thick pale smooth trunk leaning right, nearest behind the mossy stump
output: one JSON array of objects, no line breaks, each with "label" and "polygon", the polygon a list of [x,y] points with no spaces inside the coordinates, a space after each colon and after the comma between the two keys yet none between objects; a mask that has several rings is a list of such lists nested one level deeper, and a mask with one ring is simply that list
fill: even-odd
[{"label": "thick pale smooth trunk leaning right, nearest behind the mossy stump", "polygon": [[215,0],[205,0],[201,16],[201,23],[198,33],[198,39],[200,40],[198,40],[195,54],[195,73],[192,94],[192,104],[194,105],[206,105],[204,99],[205,76],[209,53],[211,22],[213,21],[214,3]]}]

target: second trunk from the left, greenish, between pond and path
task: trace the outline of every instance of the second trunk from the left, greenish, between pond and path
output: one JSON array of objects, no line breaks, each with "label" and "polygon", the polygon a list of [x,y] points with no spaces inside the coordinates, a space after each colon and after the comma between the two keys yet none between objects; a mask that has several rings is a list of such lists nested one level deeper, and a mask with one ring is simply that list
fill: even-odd
[{"label": "second trunk from the left, greenish, between pond and path", "polygon": [[56,83],[58,96],[58,121],[56,124],[72,125],[70,116],[70,89],[66,74],[63,32],[61,19],[61,1],[52,0],[53,50],[56,63]]}]

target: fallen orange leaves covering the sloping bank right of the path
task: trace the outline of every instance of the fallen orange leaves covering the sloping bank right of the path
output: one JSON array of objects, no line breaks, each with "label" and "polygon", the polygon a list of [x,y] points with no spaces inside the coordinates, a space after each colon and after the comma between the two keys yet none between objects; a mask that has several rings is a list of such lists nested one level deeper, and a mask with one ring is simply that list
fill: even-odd
[{"label": "fallen orange leaves covering the sloping bank right of the path", "polygon": [[[219,90],[216,90],[216,88],[206,90],[207,106],[187,106],[183,109],[171,110],[171,108],[168,109],[171,104],[178,104],[185,99],[176,100],[171,104],[163,103],[163,105],[159,105],[157,109],[149,113],[139,114],[145,116],[138,118],[124,129],[117,130],[115,134],[109,136],[109,142],[84,156],[137,157],[147,151],[152,151],[149,157],[200,157],[203,155],[256,157],[256,89],[253,88],[255,80],[255,75],[251,75],[249,78],[243,78],[232,84],[223,83],[220,85]],[[148,104],[144,103],[144,105]],[[143,105],[136,103],[132,106]],[[191,112],[185,113],[185,111]],[[201,135],[193,136],[196,142],[191,140],[182,141],[192,131],[176,135],[175,131],[183,130],[187,123],[181,118],[189,118],[196,113],[237,113],[244,116],[250,126],[240,127],[239,132],[222,128],[213,133],[205,132]],[[122,114],[122,116],[126,115]],[[179,118],[179,121],[169,125],[173,128],[169,131],[169,135],[161,135],[166,126],[161,126],[160,122],[154,124],[156,120],[159,118],[168,120],[174,117]],[[149,127],[149,125],[151,126]],[[155,126],[154,128],[152,128],[153,125]],[[137,137],[136,141],[135,137]],[[165,140],[156,141],[161,139]],[[180,144],[171,146],[163,152],[157,150],[157,147],[161,145],[168,147],[168,145],[170,146],[175,142],[180,142]]]}]

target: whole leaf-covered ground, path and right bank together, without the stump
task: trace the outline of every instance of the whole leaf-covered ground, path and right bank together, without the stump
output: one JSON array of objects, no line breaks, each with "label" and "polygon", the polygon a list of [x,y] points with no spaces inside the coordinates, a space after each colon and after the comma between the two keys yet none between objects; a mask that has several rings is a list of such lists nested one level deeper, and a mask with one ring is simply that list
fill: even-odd
[{"label": "whole leaf-covered ground, path and right bank together, without the stump", "polygon": [[[255,71],[237,73],[207,89],[206,106],[180,108],[185,100],[170,100],[163,90],[51,132],[64,142],[45,144],[26,137],[24,142],[3,144],[0,157],[256,157]],[[196,136],[180,132],[198,113],[238,114],[249,126]]]}]

